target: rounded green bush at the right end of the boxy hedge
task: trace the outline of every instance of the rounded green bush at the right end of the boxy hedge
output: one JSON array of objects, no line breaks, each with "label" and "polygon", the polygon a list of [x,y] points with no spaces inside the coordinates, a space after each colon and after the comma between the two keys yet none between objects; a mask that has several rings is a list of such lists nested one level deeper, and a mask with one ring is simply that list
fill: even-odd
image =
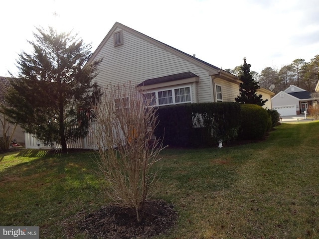
[{"label": "rounded green bush at the right end of the boxy hedge", "polygon": [[240,139],[262,139],[265,137],[268,125],[268,113],[261,106],[241,105]]}]

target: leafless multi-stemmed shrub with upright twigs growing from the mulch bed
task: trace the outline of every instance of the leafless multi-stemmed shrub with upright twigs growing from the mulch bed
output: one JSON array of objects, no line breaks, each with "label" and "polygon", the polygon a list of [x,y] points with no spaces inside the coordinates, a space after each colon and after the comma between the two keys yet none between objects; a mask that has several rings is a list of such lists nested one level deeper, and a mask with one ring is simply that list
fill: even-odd
[{"label": "leafless multi-stemmed shrub with upright twigs growing from the mulch bed", "polygon": [[132,84],[110,85],[95,106],[99,142],[99,168],[106,196],[123,207],[136,210],[143,221],[145,202],[154,193],[161,141],[153,139],[156,107],[150,93]]}]

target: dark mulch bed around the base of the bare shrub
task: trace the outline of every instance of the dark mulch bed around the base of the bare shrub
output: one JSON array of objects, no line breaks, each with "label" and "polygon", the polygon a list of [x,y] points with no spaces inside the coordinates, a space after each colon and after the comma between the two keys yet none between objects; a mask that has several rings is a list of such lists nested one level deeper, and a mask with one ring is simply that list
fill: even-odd
[{"label": "dark mulch bed around the base of the bare shrub", "polygon": [[68,238],[84,232],[90,239],[148,239],[165,233],[175,225],[177,214],[164,201],[147,201],[143,223],[136,220],[135,209],[108,205],[88,215],[79,214],[65,224]]}]

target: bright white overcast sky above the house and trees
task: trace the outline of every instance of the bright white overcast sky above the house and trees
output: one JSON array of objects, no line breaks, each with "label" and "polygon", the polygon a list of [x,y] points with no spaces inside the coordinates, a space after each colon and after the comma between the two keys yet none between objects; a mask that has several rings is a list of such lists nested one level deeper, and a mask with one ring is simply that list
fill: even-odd
[{"label": "bright white overcast sky above the house and trees", "polygon": [[93,52],[120,22],[221,69],[246,57],[259,73],[319,54],[318,0],[9,0],[0,22],[0,76],[17,75],[18,54],[48,26],[78,33]]}]

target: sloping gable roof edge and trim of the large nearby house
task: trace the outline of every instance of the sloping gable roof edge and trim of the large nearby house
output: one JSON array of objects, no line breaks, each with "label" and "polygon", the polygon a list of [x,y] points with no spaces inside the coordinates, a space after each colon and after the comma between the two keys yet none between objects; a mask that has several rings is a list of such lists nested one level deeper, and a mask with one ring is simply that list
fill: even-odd
[{"label": "sloping gable roof edge and trim of the large nearby house", "polygon": [[[105,45],[105,43],[108,41],[109,38],[112,37],[112,34],[117,30],[117,28],[120,28],[120,29],[123,29],[133,35],[136,35],[166,51],[169,51],[171,52],[172,54],[175,54],[181,58],[184,58],[186,59],[187,61],[197,65],[197,66],[200,66],[202,67],[203,69],[207,70],[209,72],[209,75],[212,75],[212,76],[217,76],[219,78],[222,78],[224,80],[227,80],[227,81],[232,81],[232,82],[236,82],[237,84],[241,83],[241,81],[239,80],[239,77],[231,74],[231,73],[228,73],[214,65],[211,65],[203,60],[200,60],[194,56],[191,56],[185,52],[182,52],[174,47],[171,47],[165,43],[162,43],[152,37],[149,37],[139,31],[136,31],[130,27],[127,27],[119,22],[116,22],[113,27],[111,28],[111,30],[107,33],[107,35],[105,36],[105,38],[103,39],[103,41],[100,43],[100,45],[97,47],[97,49],[95,50],[95,52],[92,54],[90,60],[88,61],[87,64],[90,64],[94,59],[95,57],[97,56],[97,54],[101,51],[101,49],[103,48],[103,46]],[[216,73],[217,72],[217,73]]]}]

